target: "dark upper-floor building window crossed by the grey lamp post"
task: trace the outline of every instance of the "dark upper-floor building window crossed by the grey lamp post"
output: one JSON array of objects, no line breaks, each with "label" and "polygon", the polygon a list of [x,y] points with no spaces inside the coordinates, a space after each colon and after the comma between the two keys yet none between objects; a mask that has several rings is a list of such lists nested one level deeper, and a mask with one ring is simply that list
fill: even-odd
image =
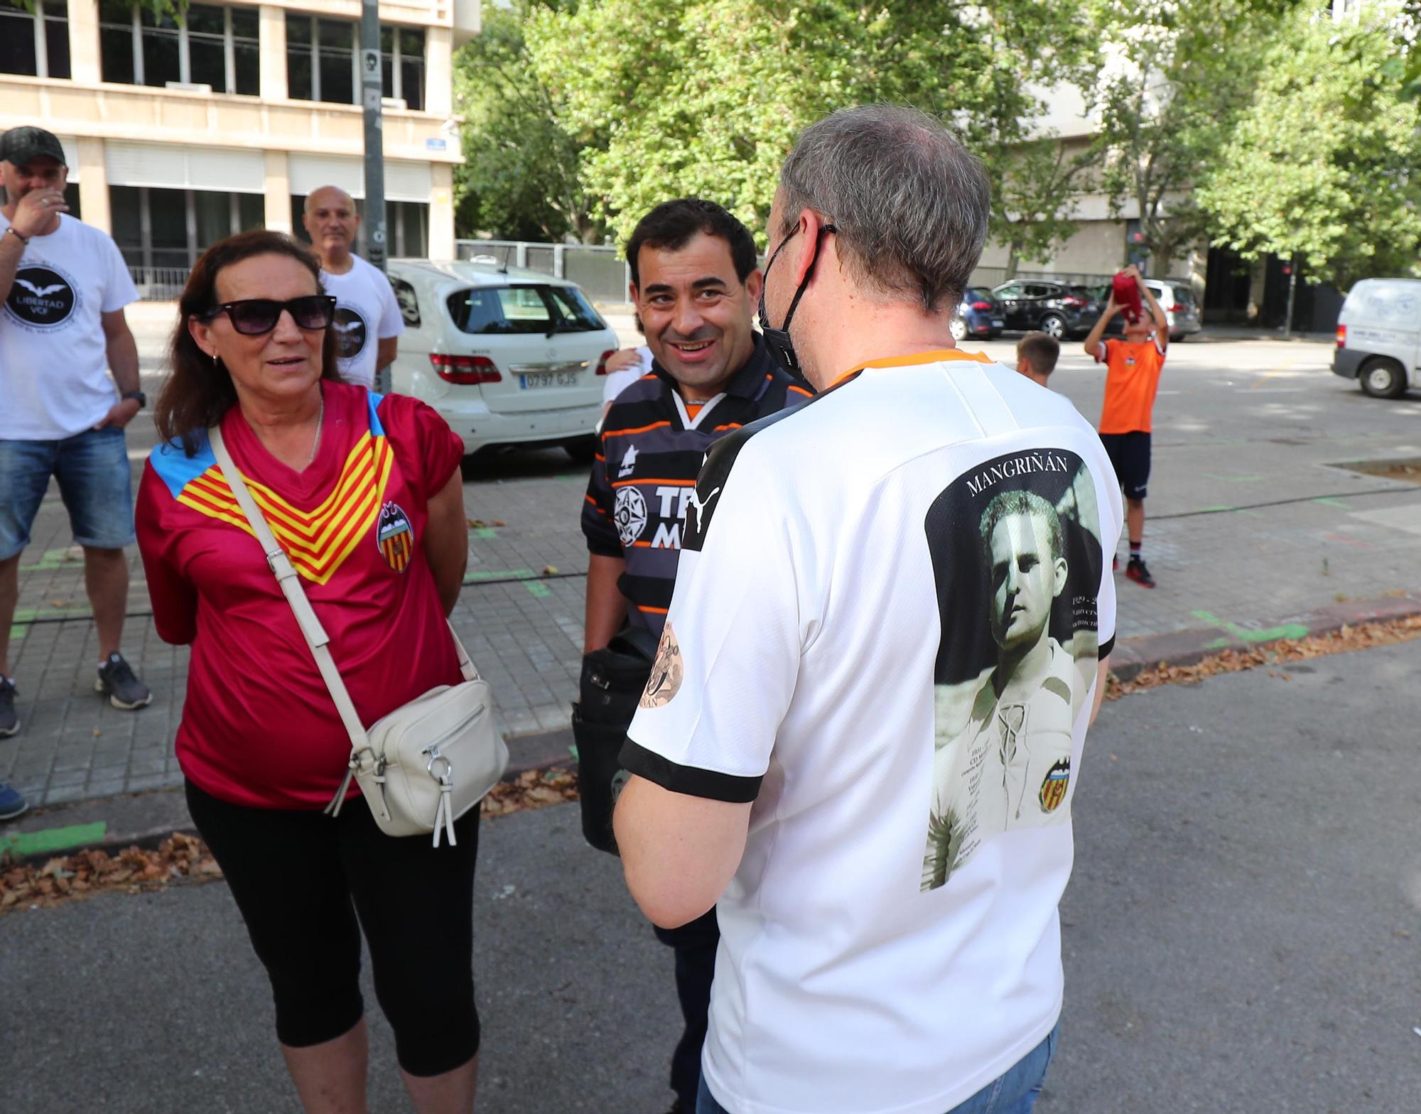
[{"label": "dark upper-floor building window crossed by the grey lamp post", "polygon": [[[418,27],[379,28],[385,97],[406,108],[425,107],[425,33]],[[360,104],[360,24],[317,16],[286,17],[286,82],[297,101]]]}]

